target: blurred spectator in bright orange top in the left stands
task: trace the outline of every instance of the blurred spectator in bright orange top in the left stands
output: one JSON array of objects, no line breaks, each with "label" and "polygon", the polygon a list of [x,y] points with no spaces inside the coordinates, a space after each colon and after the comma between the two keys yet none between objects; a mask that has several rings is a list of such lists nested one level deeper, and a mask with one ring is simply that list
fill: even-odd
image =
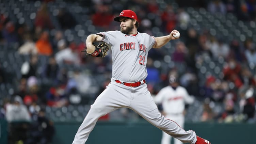
[{"label": "blurred spectator in bright orange top in the left stands", "polygon": [[52,54],[52,46],[49,41],[49,33],[47,31],[44,31],[38,41],[36,41],[36,48],[38,51],[38,54],[42,55],[51,55]]}]

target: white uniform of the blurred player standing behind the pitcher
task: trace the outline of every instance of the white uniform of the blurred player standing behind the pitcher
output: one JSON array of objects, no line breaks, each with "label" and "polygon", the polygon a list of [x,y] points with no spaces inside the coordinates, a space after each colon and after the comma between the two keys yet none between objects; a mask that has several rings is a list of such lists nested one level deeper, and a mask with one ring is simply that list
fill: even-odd
[{"label": "white uniform of the blurred player standing behind the pitcher", "polygon": [[[184,127],[184,115],[185,103],[191,104],[194,98],[189,96],[187,90],[182,86],[173,87],[166,86],[159,91],[154,97],[156,103],[162,103],[163,111],[166,114],[166,118],[172,119],[180,127]],[[171,135],[162,133],[161,144],[170,144]],[[174,144],[182,144],[178,139],[174,139]]]}]

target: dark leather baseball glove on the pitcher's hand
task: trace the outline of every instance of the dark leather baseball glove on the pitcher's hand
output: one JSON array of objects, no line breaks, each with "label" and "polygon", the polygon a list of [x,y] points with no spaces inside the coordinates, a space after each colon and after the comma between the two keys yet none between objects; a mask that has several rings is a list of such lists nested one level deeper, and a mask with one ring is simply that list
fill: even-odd
[{"label": "dark leather baseball glove on the pitcher's hand", "polygon": [[83,52],[86,52],[87,55],[92,57],[105,57],[109,48],[111,48],[106,42],[93,42],[93,45],[95,46],[95,51],[93,53],[87,53],[86,49],[84,49]]}]

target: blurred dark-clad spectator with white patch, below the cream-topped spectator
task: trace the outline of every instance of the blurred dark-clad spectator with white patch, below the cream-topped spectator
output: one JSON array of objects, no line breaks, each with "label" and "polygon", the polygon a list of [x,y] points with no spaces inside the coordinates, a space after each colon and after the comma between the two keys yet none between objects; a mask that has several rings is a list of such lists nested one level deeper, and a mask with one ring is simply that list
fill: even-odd
[{"label": "blurred dark-clad spectator with white patch, below the cream-topped spectator", "polygon": [[31,55],[30,61],[26,61],[21,66],[22,78],[29,78],[30,76],[36,76],[38,57],[37,55]]}]

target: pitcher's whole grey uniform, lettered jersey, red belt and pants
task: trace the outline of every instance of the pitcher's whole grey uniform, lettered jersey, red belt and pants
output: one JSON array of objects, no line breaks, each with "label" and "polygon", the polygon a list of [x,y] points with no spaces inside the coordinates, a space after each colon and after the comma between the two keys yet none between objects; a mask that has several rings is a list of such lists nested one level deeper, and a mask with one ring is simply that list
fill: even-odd
[{"label": "pitcher's whole grey uniform, lettered jersey, red belt and pants", "polygon": [[119,108],[130,108],[149,123],[184,143],[196,142],[194,131],[185,131],[157,109],[147,90],[147,55],[155,38],[146,33],[126,35],[120,31],[100,32],[102,41],[112,48],[112,78],[110,84],[97,97],[79,127],[73,144],[84,144],[99,117]]}]

